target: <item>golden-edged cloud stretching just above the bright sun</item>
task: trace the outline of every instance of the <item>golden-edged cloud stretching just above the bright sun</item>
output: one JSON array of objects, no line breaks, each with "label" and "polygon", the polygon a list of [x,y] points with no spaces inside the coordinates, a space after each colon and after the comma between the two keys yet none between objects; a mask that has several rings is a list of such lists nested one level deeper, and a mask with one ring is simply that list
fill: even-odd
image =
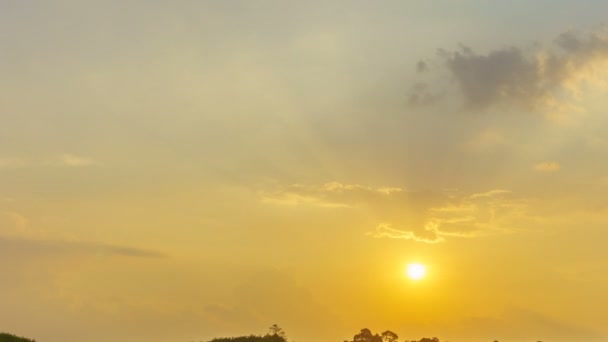
[{"label": "golden-edged cloud stretching just above the bright sun", "polygon": [[400,187],[331,182],[293,184],[263,192],[261,201],[294,207],[356,208],[376,221],[373,230],[368,227],[367,235],[423,243],[510,232],[526,213],[525,201],[504,189],[468,195],[449,190],[428,194]]}]

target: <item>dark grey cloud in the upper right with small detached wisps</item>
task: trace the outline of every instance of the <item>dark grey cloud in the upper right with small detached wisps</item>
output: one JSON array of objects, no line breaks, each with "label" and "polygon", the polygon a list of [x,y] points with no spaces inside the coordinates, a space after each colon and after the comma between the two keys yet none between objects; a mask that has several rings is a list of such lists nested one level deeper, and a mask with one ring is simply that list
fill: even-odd
[{"label": "dark grey cloud in the upper right with small detached wisps", "polygon": [[[455,51],[440,49],[438,56],[467,109],[506,106],[559,111],[575,108],[567,99],[575,98],[580,81],[593,79],[594,71],[608,61],[608,35],[569,31],[560,34],[549,49],[512,46],[483,54],[460,45]],[[420,99],[436,100],[437,93],[430,86],[413,87],[410,104],[427,104],[431,101]]]}]

